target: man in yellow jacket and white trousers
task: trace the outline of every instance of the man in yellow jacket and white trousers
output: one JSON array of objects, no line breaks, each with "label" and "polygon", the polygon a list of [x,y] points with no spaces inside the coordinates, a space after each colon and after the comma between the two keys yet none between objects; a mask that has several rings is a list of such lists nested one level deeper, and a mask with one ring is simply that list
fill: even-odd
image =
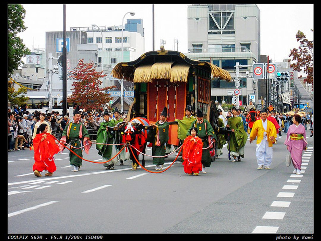
[{"label": "man in yellow jacket and white trousers", "polygon": [[254,122],[251,134],[250,143],[257,137],[256,140],[256,160],[257,169],[270,169],[273,158],[273,142],[276,138],[276,129],[274,124],[267,120],[267,111],[262,110],[261,118]]}]

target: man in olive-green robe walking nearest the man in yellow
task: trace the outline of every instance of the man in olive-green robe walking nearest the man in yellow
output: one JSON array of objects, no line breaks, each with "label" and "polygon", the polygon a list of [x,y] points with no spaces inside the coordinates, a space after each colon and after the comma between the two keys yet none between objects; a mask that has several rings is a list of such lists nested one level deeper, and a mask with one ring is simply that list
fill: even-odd
[{"label": "man in olive-green robe walking nearest the man in yellow", "polygon": [[[233,156],[232,162],[240,162],[241,157],[244,158],[244,149],[247,141],[247,134],[244,130],[243,120],[238,115],[238,112],[235,107],[232,108],[233,117],[230,117],[226,127],[229,127],[232,130],[230,134],[230,142],[228,143],[227,148],[230,150],[230,153]],[[236,157],[238,158],[236,160]]]}]

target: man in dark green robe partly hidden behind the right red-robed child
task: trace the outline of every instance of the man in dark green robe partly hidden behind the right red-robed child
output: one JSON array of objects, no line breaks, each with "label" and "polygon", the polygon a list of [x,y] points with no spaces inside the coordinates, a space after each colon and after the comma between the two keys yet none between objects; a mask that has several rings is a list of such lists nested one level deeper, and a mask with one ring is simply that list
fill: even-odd
[{"label": "man in dark green robe partly hidden behind the right red-robed child", "polygon": [[[202,170],[202,173],[206,173],[205,167],[210,167],[211,161],[212,161],[211,155],[210,155],[210,149],[212,149],[214,147],[217,137],[215,135],[215,132],[213,130],[211,123],[208,120],[205,120],[203,118],[203,112],[201,112],[198,109],[197,109],[197,113],[196,113],[196,120],[193,121],[191,128],[192,127],[197,128],[197,136],[199,138],[201,138],[203,141],[203,154],[202,154],[203,170]],[[191,129],[189,130],[189,135],[191,135],[190,131],[191,131]],[[212,143],[212,141],[214,143],[211,144],[211,146],[209,147],[209,144]],[[207,148],[207,147],[209,147],[209,148]],[[207,148],[207,149],[204,149],[204,148]]]}]

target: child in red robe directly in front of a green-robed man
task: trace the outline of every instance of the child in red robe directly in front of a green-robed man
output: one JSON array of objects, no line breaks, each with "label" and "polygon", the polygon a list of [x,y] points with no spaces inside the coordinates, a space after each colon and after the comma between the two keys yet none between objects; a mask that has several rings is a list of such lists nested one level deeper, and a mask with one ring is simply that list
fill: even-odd
[{"label": "child in red robe directly in front of a green-robed man", "polygon": [[184,172],[188,175],[198,176],[202,171],[202,139],[197,137],[197,128],[191,129],[191,136],[185,138],[183,143]]}]

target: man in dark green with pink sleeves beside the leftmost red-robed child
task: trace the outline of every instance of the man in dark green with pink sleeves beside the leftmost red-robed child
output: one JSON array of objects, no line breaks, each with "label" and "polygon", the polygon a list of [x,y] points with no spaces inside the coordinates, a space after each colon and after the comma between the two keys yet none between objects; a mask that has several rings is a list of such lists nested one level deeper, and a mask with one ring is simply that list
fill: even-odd
[{"label": "man in dark green with pink sleeves beside the leftmost red-robed child", "polygon": [[79,147],[81,147],[83,143],[84,150],[88,154],[92,145],[89,133],[84,124],[80,122],[80,118],[79,106],[77,105],[74,111],[74,120],[66,125],[60,139],[62,144],[69,143],[71,146],[70,149],[77,154],[75,155],[71,151],[69,153],[70,165],[74,166],[73,172],[78,172],[82,166],[82,148]]}]

